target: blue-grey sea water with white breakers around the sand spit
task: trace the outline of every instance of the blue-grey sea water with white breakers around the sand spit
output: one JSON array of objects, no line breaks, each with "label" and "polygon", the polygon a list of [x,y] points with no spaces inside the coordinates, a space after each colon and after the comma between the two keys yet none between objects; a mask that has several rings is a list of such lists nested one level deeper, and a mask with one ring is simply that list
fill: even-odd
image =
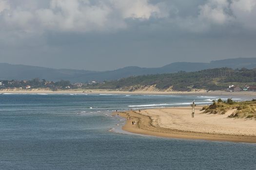
[{"label": "blue-grey sea water with white breakers around the sand spit", "polygon": [[0,170],[256,170],[256,144],[126,134],[125,120],[111,116],[217,98],[3,94]]}]

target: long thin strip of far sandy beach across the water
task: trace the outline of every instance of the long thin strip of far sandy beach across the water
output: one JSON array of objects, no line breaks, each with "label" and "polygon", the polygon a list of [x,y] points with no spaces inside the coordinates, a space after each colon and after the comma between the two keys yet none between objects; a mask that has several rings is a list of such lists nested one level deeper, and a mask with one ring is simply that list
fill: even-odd
[{"label": "long thin strip of far sandy beach across the water", "polygon": [[57,90],[52,91],[50,89],[1,89],[0,93],[11,93],[11,94],[125,94],[125,95],[200,95],[200,96],[241,96],[241,97],[254,97],[256,92],[253,91],[239,91],[239,92],[228,92],[228,91],[116,91],[107,89],[74,89],[74,90]]}]

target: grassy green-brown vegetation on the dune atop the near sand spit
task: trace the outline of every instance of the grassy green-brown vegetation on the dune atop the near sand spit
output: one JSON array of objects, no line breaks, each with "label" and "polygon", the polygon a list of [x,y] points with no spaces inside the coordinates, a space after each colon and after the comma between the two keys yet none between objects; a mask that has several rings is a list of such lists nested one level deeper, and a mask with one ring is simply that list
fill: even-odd
[{"label": "grassy green-brown vegetation on the dune atop the near sand spit", "polygon": [[202,108],[204,113],[209,114],[225,114],[229,110],[235,110],[228,118],[251,118],[256,119],[256,100],[234,102],[232,99],[222,101],[219,99],[217,102]]}]

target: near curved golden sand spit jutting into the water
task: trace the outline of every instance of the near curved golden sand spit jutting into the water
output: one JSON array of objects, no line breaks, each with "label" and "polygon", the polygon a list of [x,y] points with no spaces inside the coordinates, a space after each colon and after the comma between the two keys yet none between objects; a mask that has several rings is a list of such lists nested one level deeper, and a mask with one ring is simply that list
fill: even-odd
[{"label": "near curved golden sand spit jutting into the water", "polygon": [[[256,143],[256,120],[228,119],[225,115],[202,114],[196,107],[172,107],[120,112],[127,118],[123,130],[150,136]],[[136,124],[132,124],[136,121]]]}]

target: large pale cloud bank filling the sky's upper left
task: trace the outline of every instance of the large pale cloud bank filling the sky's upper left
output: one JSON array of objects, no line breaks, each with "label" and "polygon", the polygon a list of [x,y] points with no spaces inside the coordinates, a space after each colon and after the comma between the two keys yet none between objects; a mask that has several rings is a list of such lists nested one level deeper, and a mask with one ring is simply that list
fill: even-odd
[{"label": "large pale cloud bank filling the sky's upper left", "polygon": [[2,30],[112,31],[125,29],[126,18],[167,17],[169,12],[161,9],[164,2],[151,4],[148,0],[50,0],[44,8],[24,1],[26,6],[0,0],[1,24],[5,25]]}]

